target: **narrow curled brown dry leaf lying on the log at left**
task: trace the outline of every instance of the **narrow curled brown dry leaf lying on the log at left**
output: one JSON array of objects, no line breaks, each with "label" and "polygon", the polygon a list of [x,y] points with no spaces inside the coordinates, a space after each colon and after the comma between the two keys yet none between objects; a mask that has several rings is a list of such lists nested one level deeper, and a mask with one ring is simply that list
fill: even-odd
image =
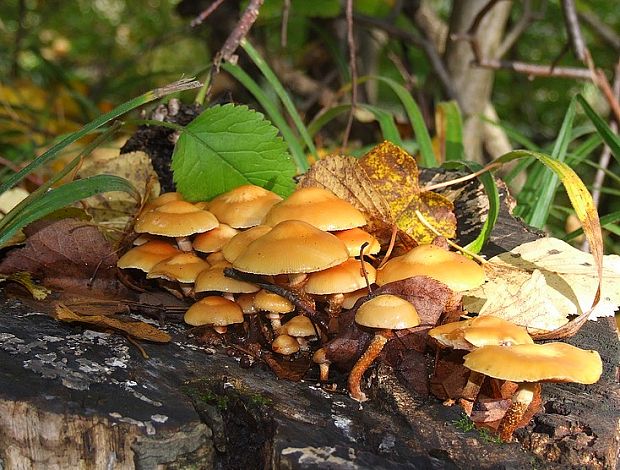
[{"label": "narrow curled brown dry leaf lying on the log at left", "polygon": [[69,323],[77,322],[97,328],[122,331],[133,338],[155,343],[167,343],[171,339],[168,333],[142,321],[126,322],[104,315],[79,315],[61,303],[56,305],[56,318]]}]

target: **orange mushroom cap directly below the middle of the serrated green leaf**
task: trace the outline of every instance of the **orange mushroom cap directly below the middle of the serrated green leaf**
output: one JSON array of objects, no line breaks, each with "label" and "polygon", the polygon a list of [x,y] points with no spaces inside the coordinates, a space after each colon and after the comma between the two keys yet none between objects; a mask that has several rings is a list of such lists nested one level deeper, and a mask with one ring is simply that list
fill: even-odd
[{"label": "orange mushroom cap directly below the middle of the serrated green leaf", "polygon": [[261,224],[269,209],[281,200],[267,189],[246,184],[217,196],[209,203],[209,211],[231,227],[248,228]]}]

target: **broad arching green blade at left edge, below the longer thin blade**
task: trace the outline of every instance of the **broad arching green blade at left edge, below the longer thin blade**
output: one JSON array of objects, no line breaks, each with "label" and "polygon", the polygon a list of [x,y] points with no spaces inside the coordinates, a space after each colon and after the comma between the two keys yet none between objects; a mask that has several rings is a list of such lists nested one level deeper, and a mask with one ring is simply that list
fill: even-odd
[{"label": "broad arching green blade at left edge, below the longer thin blade", "polygon": [[0,246],[4,245],[19,229],[31,222],[51,214],[55,210],[73,204],[94,194],[108,191],[123,191],[140,200],[140,194],[124,178],[114,175],[96,175],[90,178],[71,181],[41,194],[31,201],[3,228],[0,234]]}]

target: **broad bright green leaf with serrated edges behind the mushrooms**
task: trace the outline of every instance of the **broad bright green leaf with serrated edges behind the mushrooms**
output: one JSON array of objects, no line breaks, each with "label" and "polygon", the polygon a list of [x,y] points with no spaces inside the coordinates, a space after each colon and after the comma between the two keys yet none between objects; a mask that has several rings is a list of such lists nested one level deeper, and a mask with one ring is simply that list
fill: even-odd
[{"label": "broad bright green leaf with serrated edges behind the mushrooms", "polygon": [[172,155],[177,190],[205,201],[243,184],[281,196],[295,189],[295,165],[278,130],[247,106],[213,106],[187,125]]}]

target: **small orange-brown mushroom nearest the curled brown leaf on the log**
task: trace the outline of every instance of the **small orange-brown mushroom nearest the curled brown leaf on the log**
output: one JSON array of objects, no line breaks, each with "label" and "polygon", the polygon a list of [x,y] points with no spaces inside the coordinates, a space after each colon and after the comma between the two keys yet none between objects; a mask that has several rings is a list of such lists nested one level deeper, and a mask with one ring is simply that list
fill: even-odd
[{"label": "small orange-brown mushroom nearest the curled brown leaf on the log", "polygon": [[229,325],[243,323],[243,312],[232,300],[211,296],[193,304],[185,312],[183,320],[192,326],[212,326],[215,331],[224,334]]}]

